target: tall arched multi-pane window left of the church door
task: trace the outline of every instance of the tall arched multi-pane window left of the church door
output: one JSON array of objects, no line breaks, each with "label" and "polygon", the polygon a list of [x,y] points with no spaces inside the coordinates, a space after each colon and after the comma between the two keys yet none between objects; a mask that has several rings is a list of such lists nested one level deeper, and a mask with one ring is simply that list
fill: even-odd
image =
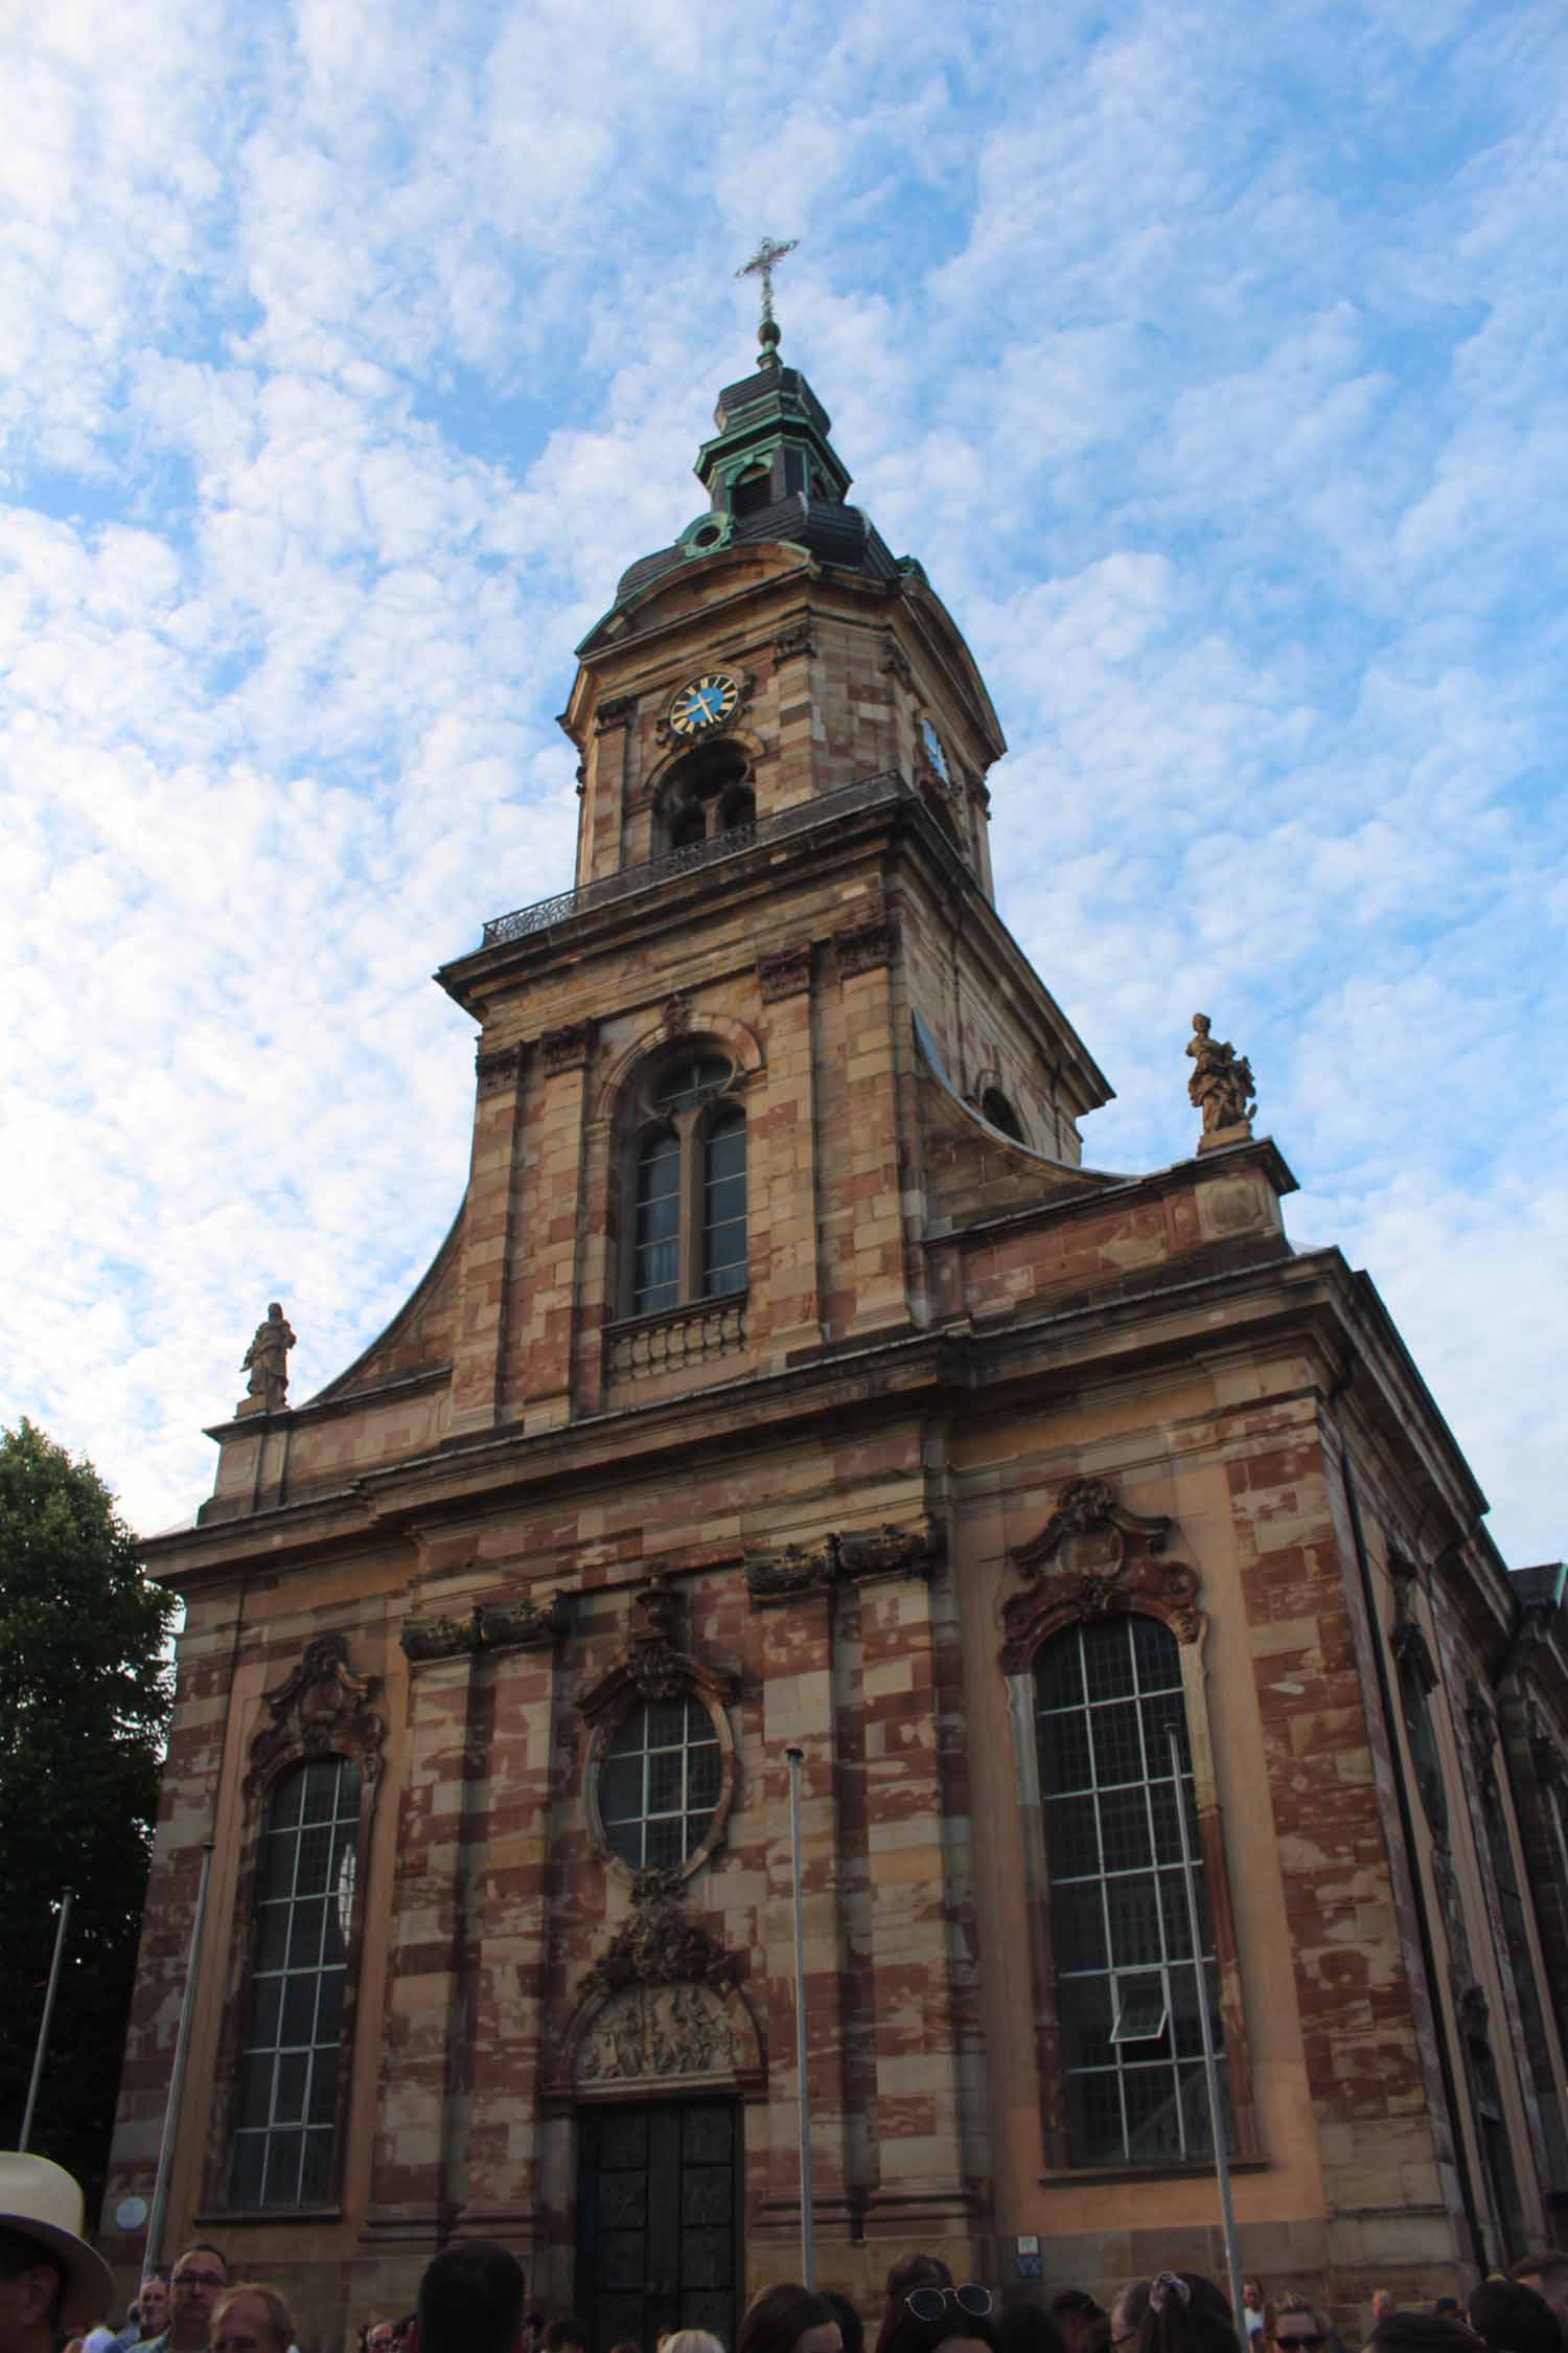
[{"label": "tall arched multi-pane window left of the church door", "polygon": [[235,2087],[235,2207],[331,2195],[357,1831],[360,1769],[348,1758],[310,1758],[273,1791]]}]

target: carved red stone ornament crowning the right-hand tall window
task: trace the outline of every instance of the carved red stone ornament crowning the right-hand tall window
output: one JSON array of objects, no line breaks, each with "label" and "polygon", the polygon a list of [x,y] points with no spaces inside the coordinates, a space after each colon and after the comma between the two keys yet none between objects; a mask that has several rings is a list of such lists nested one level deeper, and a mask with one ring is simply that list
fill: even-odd
[{"label": "carved red stone ornament crowning the right-hand tall window", "polygon": [[1168,1529],[1164,1515],[1126,1511],[1107,1480],[1067,1480],[1039,1537],[1011,1553],[1027,1586],[1001,1609],[1001,1671],[1025,1673],[1039,1645],[1065,1626],[1124,1612],[1154,1617],[1178,1642],[1197,1642],[1199,1574],[1159,1558]]}]

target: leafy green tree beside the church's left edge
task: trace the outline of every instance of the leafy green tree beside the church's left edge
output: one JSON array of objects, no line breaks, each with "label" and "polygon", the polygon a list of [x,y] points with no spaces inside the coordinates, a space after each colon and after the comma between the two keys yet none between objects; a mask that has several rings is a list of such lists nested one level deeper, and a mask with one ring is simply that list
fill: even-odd
[{"label": "leafy green tree beside the church's left edge", "polygon": [[103,2191],[169,1720],[174,1600],[89,1461],[0,1431],[0,2137],[28,2097],[54,1927],[75,1892],[31,2146]]}]

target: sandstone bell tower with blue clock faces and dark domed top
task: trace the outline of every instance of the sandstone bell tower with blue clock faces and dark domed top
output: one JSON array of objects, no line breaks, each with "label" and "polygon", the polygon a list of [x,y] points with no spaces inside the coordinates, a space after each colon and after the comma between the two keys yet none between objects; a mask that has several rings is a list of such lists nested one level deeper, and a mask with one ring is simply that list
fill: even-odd
[{"label": "sandstone bell tower with blue clock faces and dark domed top", "polygon": [[484,1031],[454,1428],[924,1329],[954,1169],[1072,1186],[1110,1092],[994,911],[985,682],[778,341],[578,647],[576,889],[442,972]]}]

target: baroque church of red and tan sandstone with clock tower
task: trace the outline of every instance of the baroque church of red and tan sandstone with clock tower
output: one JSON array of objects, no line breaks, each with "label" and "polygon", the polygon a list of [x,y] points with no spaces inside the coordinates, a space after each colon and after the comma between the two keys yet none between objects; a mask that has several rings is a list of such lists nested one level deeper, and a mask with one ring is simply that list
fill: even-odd
[{"label": "baroque church of red and tan sandstone with clock tower", "polygon": [[193,1972],[165,2259],[339,2348],[484,2235],[597,2353],[733,2344],[799,2275],[799,2002],[823,2282],[1222,2273],[1206,2005],[1246,2268],[1462,2287],[1568,2238],[1563,1569],[1237,1087],[1084,1165],[985,680],[766,304],[696,473],[578,649],[574,889],[440,972],[451,1233],[308,1402],[268,1320],[146,1546],[106,2214]]}]

